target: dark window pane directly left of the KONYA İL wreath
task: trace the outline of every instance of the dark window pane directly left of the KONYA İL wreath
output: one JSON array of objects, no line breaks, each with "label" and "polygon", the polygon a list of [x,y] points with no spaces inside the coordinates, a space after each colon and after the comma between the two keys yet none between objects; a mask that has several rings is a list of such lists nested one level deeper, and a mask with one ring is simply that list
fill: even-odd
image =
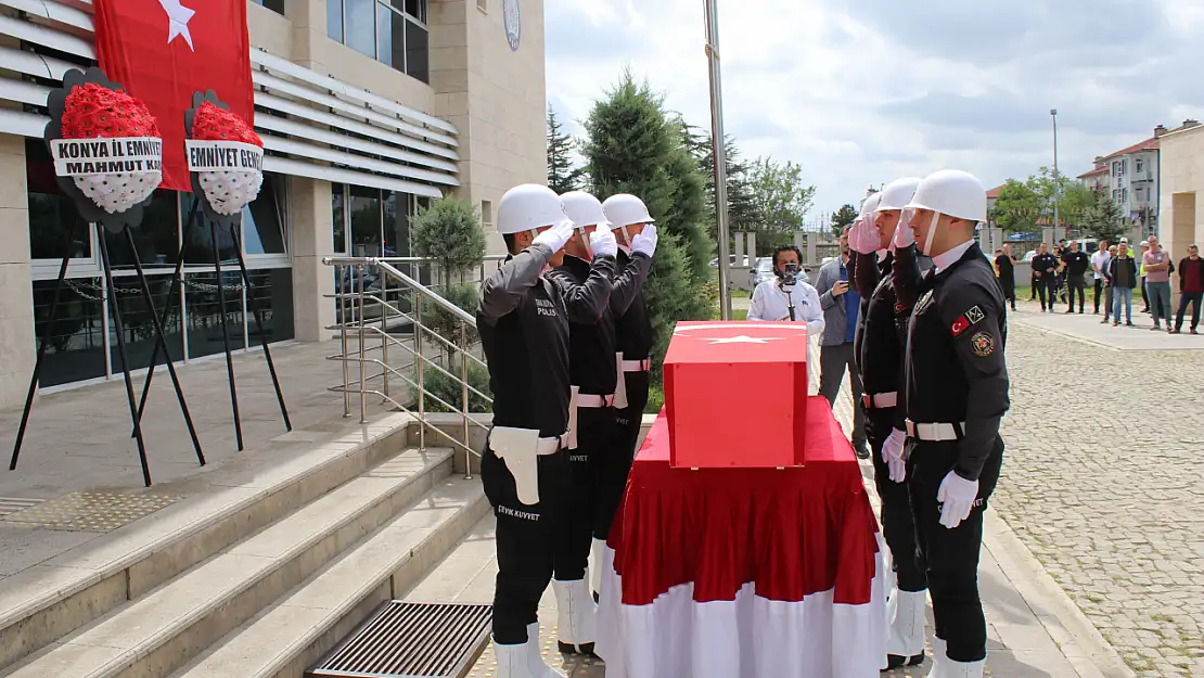
[{"label": "dark window pane directly left of the KONYA \u0130L wreath", "polygon": [[[75,204],[59,190],[54,163],[46,145],[25,140],[25,175],[29,177],[29,248],[34,259],[61,260],[92,257],[89,225]],[[71,230],[71,241],[66,240]]]}]

